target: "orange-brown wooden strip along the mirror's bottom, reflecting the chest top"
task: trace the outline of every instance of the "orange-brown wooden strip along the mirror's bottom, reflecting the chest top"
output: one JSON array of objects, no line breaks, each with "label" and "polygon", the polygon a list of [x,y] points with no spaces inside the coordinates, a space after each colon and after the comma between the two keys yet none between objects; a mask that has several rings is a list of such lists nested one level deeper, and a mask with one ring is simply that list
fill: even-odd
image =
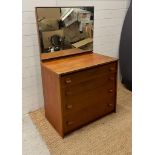
[{"label": "orange-brown wooden strip along the mirror's bottom, reflecting the chest top", "polygon": [[41,53],[40,59],[41,60],[55,59],[55,58],[65,57],[68,55],[75,55],[75,54],[87,53],[87,52],[90,52],[90,51],[85,51],[78,48],[72,48],[72,49],[67,49],[67,50],[62,50],[57,52],[51,52],[51,53]]}]

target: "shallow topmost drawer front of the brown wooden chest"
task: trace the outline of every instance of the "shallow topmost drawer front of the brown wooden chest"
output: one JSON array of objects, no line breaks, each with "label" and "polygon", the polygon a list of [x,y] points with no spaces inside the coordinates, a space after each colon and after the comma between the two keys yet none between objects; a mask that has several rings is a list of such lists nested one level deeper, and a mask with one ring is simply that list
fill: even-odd
[{"label": "shallow topmost drawer front of the brown wooden chest", "polygon": [[104,74],[115,72],[117,72],[117,61],[63,75],[61,77],[61,83],[63,87],[66,87],[102,76]]}]

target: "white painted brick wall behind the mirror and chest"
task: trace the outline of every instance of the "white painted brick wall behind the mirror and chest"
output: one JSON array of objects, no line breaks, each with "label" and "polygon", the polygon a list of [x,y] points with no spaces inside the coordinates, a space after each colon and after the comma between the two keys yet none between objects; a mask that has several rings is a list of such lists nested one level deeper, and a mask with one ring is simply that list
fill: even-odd
[{"label": "white painted brick wall behind the mirror and chest", "polygon": [[130,0],[23,0],[23,114],[43,106],[37,6],[95,6],[94,51],[118,57],[122,24]]}]

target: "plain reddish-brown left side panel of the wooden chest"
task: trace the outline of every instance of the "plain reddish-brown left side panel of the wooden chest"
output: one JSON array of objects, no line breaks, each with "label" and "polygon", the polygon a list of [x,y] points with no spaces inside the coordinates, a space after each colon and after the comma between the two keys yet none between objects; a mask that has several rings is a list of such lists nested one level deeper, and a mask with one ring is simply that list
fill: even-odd
[{"label": "plain reddish-brown left side panel of the wooden chest", "polygon": [[56,74],[42,68],[45,116],[58,133],[63,136],[59,78]]}]

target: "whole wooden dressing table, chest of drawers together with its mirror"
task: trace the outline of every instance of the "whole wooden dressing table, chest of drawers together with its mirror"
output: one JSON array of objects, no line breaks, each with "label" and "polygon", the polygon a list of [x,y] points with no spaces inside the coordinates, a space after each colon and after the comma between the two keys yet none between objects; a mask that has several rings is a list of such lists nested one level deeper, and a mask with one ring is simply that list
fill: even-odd
[{"label": "whole wooden dressing table, chest of drawers together with its mirror", "polygon": [[94,7],[36,7],[45,116],[64,137],[116,112],[117,59],[93,51]]}]

